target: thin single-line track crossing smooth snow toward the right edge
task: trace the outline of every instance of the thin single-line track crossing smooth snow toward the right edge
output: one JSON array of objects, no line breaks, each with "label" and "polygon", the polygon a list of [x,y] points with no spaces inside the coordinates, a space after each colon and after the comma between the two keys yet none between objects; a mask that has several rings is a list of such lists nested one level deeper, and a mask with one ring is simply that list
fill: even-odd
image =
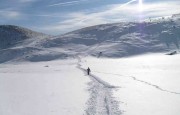
[{"label": "thin single-line track crossing smooth snow toward the right edge", "polygon": [[123,76],[123,77],[130,77],[130,78],[132,78],[132,79],[135,80],[135,81],[138,81],[138,82],[144,83],[144,84],[146,84],[146,85],[152,86],[152,87],[154,87],[154,88],[156,88],[156,89],[158,89],[158,90],[161,90],[161,91],[164,91],[164,92],[168,92],[168,93],[172,93],[172,94],[180,95],[180,93],[178,93],[178,92],[174,92],[174,91],[169,91],[169,90],[163,89],[163,88],[159,87],[158,85],[154,85],[154,84],[152,84],[152,83],[149,83],[149,82],[146,82],[146,81],[143,81],[143,80],[139,80],[139,79],[137,79],[137,78],[134,77],[134,76],[125,76],[125,75],[121,75],[121,74],[105,73],[105,72],[98,72],[98,71],[94,71],[94,72],[102,73],[102,74],[111,74],[111,75],[116,75],[116,76],[121,76],[121,77],[122,77],[122,76]]}]

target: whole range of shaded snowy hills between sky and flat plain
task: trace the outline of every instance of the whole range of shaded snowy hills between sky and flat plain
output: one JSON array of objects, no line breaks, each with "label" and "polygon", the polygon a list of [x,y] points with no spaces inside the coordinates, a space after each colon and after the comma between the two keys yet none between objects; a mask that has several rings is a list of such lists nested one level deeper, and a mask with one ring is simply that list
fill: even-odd
[{"label": "whole range of shaded snowy hills between sky and flat plain", "polygon": [[179,20],[172,19],[103,24],[55,37],[17,26],[1,26],[0,31],[1,48],[10,47],[0,51],[1,63],[12,59],[49,61],[77,54],[125,57],[167,52],[179,49],[180,40]]}]

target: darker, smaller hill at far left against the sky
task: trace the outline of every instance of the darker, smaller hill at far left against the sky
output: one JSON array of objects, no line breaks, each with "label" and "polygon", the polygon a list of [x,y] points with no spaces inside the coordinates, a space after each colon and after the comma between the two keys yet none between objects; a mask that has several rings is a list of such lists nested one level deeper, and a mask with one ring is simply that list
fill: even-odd
[{"label": "darker, smaller hill at far left against the sky", "polygon": [[24,42],[24,40],[47,36],[23,27],[14,25],[0,25],[0,48],[13,47]]}]

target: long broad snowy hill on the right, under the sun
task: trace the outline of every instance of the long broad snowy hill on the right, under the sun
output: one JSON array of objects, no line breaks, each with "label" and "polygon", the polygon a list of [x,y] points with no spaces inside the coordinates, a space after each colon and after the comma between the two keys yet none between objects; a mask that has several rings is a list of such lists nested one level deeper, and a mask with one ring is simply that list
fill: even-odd
[{"label": "long broad snowy hill on the right, under the sun", "polygon": [[[50,47],[61,47],[97,56],[124,57],[147,52],[162,52],[179,48],[179,22],[122,22],[83,28],[55,37]],[[55,45],[57,47],[58,45]]]}]

